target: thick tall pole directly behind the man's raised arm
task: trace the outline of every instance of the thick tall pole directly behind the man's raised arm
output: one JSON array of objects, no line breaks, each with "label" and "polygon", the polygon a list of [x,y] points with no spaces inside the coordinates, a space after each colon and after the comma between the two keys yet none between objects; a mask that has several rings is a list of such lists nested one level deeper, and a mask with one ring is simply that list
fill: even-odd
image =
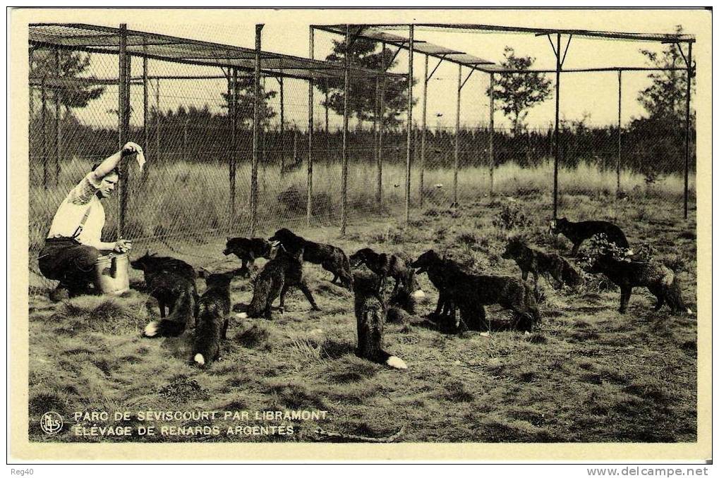
[{"label": "thick tall pole directly behind the man's raised arm", "polygon": [[[127,24],[120,24],[119,41],[119,85],[118,91],[118,143],[119,147],[127,142],[129,129],[129,55],[127,55]],[[117,182],[117,237],[124,231],[125,212],[127,211],[127,161],[120,163],[120,178]]]}]

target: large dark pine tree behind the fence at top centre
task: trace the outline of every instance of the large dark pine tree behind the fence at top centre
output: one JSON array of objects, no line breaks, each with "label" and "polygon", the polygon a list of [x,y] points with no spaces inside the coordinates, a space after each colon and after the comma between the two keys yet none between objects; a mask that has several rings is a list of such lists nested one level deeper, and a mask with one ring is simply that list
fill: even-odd
[{"label": "large dark pine tree behind the fence at top centre", "polygon": [[[347,48],[344,40],[333,40],[334,48],[327,55],[326,60],[344,65],[344,56]],[[380,72],[384,65],[387,70],[397,64],[393,60],[394,52],[388,48],[376,51],[377,43],[365,39],[357,39],[350,45],[350,65],[368,68]],[[381,80],[380,80],[381,81]],[[416,81],[413,80],[413,84]],[[327,104],[336,114],[344,114],[344,81],[342,79],[316,82],[316,86],[327,95]],[[405,78],[385,77],[385,124],[396,126],[400,123],[398,116],[407,110],[408,84]],[[376,85],[374,79],[354,79],[349,81],[349,114],[361,121],[374,121],[376,109]],[[325,106],[325,102],[322,102]]]}]

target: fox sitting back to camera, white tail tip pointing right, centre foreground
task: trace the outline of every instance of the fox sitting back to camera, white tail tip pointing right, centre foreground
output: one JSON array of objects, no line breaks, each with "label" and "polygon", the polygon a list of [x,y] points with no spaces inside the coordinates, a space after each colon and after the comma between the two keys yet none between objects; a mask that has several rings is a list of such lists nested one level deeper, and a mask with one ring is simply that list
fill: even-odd
[{"label": "fox sitting back to camera, white tail tip pointing right, centre foreground", "polygon": [[357,356],[395,369],[407,364],[383,349],[387,308],[380,298],[379,277],[372,272],[354,275],[354,316],[357,318]]}]

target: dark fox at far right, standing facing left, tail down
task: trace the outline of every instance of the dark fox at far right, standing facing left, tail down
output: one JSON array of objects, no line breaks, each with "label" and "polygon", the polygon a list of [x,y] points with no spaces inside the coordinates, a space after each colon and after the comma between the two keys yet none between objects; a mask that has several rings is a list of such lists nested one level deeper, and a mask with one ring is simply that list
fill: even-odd
[{"label": "dark fox at far right, standing facing left, tail down", "polygon": [[672,312],[692,313],[682,300],[677,275],[660,262],[628,262],[615,259],[611,254],[602,254],[595,259],[589,271],[602,273],[619,286],[620,313],[626,312],[631,291],[635,287],[646,287],[649,292],[654,294],[656,297],[655,311],[659,311],[666,303]]}]

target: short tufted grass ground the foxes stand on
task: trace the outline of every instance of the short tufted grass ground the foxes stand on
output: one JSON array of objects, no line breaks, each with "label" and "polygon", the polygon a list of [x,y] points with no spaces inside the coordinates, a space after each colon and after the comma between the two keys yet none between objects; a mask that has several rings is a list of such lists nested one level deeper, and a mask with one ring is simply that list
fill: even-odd
[{"label": "short tufted grass ground the foxes stand on", "polygon": [[[434,180],[434,179],[433,179]],[[567,252],[568,242],[547,232],[546,196],[523,203],[533,217],[524,231],[533,244]],[[684,299],[696,310],[695,211],[679,211],[655,198],[617,206],[600,196],[562,197],[562,211],[574,219],[613,219],[633,247],[650,246],[679,270]],[[458,211],[428,206],[411,224],[357,221],[350,234],[336,229],[301,231],[334,242],[348,254],[369,245],[416,256],[434,248],[471,270],[519,275],[500,258],[505,231],[493,226],[500,202],[465,201]],[[216,259],[181,257],[216,270],[239,267],[221,254],[224,237],[184,250]],[[144,252],[144,251],[141,251]],[[260,261],[261,262],[261,261]],[[408,323],[388,324],[385,348],[402,357],[398,371],[354,356],[352,295],[329,284],[319,266],[307,265],[315,298],[323,309],[310,312],[300,293],[288,295],[288,310],[273,321],[240,320],[232,314],[223,357],[207,371],[188,364],[189,337],[142,339],[157,316],[154,300],[142,292],[141,276],[119,298],[80,297],[52,304],[33,295],[29,308],[29,436],[33,441],[313,441],[315,428],[400,441],[429,442],[682,442],[697,438],[696,316],[654,313],[654,298],[636,289],[626,315],[618,313],[616,289],[590,288],[577,295],[541,282],[544,316],[539,331],[488,337],[446,335],[426,326],[436,290],[425,275],[428,301]],[[198,288],[203,290],[203,282]],[[247,279],[232,283],[237,310],[249,303]],[[489,316],[503,311],[489,308]],[[227,422],[169,420],[155,426],[218,426],[219,436],[73,436],[75,412],[116,410],[326,410],[325,420]],[[68,426],[46,436],[38,425],[47,411]],[[86,427],[116,425],[90,420]],[[293,425],[288,435],[225,433],[228,426]],[[137,426],[134,418],[127,423]]]}]

